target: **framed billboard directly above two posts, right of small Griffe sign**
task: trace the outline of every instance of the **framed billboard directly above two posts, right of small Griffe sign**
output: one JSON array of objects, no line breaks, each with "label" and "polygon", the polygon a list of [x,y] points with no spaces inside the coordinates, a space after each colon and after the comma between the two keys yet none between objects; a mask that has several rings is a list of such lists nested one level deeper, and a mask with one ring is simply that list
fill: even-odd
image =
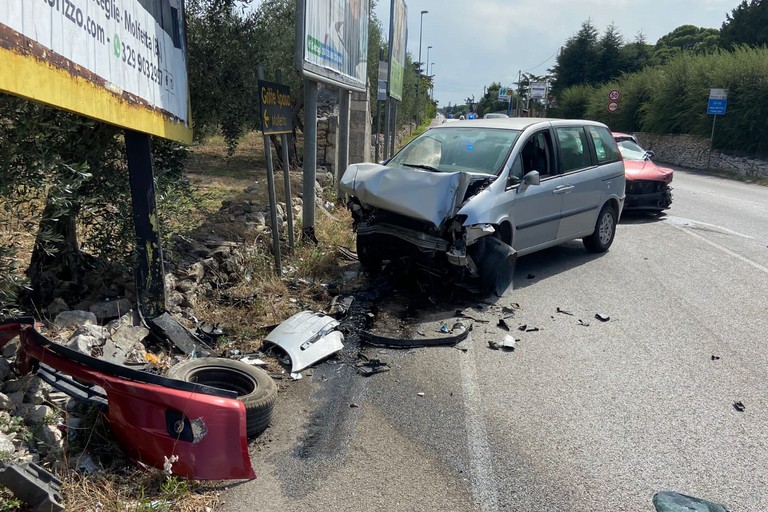
[{"label": "framed billboard directly above two posts, right of small Griffe sign", "polygon": [[297,45],[302,74],[343,89],[365,91],[369,12],[370,0],[302,0]]}]

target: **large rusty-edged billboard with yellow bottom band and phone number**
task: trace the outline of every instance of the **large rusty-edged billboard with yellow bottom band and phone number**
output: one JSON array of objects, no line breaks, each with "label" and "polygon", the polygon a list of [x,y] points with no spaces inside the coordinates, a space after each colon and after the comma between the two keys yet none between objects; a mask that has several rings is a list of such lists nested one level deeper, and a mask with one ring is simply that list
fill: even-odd
[{"label": "large rusty-edged billboard with yellow bottom band and phone number", "polygon": [[191,142],[183,0],[2,0],[0,91]]}]

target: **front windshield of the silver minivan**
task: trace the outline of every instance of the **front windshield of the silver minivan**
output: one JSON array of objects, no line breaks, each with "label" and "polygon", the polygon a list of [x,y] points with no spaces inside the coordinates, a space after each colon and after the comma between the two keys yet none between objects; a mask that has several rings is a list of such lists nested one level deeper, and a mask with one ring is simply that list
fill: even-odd
[{"label": "front windshield of the silver minivan", "polygon": [[518,130],[456,127],[428,130],[387,162],[434,172],[495,175],[501,170]]}]

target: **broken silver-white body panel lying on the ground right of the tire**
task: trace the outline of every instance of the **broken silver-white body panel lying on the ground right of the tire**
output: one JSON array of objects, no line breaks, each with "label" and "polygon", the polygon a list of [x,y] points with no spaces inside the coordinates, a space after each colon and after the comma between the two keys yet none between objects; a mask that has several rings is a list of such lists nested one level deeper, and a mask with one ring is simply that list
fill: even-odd
[{"label": "broken silver-white body panel lying on the ground right of the tire", "polygon": [[344,335],[334,331],[338,325],[338,320],[330,316],[302,311],[275,327],[264,341],[288,354],[293,374],[344,348]]}]

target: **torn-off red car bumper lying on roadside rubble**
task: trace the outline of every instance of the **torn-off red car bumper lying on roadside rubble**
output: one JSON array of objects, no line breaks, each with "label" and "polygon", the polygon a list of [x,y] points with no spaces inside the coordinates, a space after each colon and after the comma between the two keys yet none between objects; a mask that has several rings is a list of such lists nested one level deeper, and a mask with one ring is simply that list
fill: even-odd
[{"label": "torn-off red car bumper lying on roadside rubble", "polygon": [[21,373],[41,363],[104,389],[104,414],[134,461],[198,480],[252,479],[245,405],[234,391],[168,379],[102,361],[47,339],[30,318],[0,324],[0,347],[16,336]]}]

